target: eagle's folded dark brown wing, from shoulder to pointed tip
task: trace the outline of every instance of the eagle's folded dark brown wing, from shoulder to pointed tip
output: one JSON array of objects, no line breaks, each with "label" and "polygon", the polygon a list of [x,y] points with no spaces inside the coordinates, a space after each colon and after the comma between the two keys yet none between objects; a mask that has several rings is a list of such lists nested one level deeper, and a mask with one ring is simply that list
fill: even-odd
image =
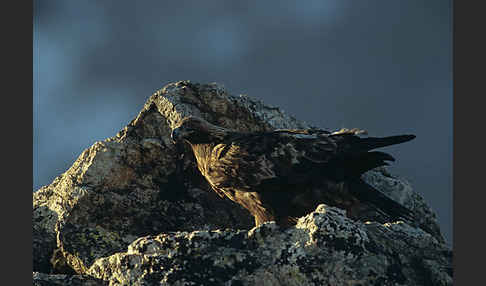
[{"label": "eagle's folded dark brown wing, from shoulder to pointed tip", "polygon": [[298,185],[327,177],[359,178],[393,157],[369,150],[411,140],[413,135],[361,138],[361,130],[276,130],[235,133],[213,148],[208,173],[213,186],[255,190],[263,181]]}]

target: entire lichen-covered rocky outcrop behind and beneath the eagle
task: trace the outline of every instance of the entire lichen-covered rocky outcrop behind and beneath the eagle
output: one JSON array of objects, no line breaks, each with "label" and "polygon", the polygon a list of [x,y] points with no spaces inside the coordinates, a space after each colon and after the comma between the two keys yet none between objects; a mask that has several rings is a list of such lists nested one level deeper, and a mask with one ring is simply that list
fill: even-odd
[{"label": "entire lichen-covered rocky outcrop behind and beneath the eagle", "polygon": [[241,131],[311,127],[218,84],[165,86],[34,193],[34,271],[110,285],[451,283],[435,215],[404,180],[383,168],[364,176],[416,213],[413,226],[354,222],[321,205],[289,230],[252,229],[248,212],[211,191],[191,153],[170,141],[187,115]]}]

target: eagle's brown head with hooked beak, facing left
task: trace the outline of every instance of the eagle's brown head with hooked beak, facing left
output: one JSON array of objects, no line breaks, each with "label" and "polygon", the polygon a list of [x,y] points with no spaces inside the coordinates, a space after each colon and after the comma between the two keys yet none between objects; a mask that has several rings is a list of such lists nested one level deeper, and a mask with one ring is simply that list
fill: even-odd
[{"label": "eagle's brown head with hooked beak, facing left", "polygon": [[174,143],[186,141],[189,144],[207,144],[224,139],[228,130],[213,125],[206,120],[189,116],[181,120],[178,127],[172,130],[170,137]]}]

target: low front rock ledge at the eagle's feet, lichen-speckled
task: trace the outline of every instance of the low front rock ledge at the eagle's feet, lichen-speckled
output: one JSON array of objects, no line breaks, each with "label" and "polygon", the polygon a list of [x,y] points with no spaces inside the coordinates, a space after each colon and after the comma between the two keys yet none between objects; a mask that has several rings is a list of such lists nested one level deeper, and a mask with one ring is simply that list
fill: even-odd
[{"label": "low front rock ledge at the eagle's feet, lichen-speckled", "polygon": [[452,285],[450,257],[403,222],[356,223],[319,205],[286,231],[271,222],[141,237],[88,273],[110,285]]}]

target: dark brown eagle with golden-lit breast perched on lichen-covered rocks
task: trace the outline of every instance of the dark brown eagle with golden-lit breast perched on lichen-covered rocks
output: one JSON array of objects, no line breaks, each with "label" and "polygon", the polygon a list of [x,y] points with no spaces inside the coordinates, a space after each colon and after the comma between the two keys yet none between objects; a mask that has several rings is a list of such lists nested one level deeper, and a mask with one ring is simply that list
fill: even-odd
[{"label": "dark brown eagle with golden-lit breast perched on lichen-covered rocks", "polygon": [[239,132],[189,116],[172,130],[188,144],[212,189],[246,208],[255,225],[289,227],[318,204],[339,207],[355,220],[373,210],[390,220],[412,220],[411,210],[364,182],[361,175],[394,158],[376,148],[415,135],[362,137],[366,131],[277,129]]}]

